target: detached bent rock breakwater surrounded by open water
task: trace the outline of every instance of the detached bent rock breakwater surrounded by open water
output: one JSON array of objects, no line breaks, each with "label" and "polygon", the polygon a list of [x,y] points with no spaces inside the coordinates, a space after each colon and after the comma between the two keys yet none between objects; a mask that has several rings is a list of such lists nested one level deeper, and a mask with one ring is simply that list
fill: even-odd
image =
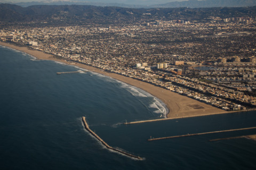
[{"label": "detached bent rock breakwater surrounded by open water", "polygon": [[116,151],[116,152],[119,152],[120,154],[123,154],[123,155],[125,155],[125,156],[129,156],[129,157],[131,157],[131,158],[135,158],[135,159],[142,160],[142,158],[139,157],[139,156],[135,156],[135,155],[129,154],[129,153],[127,153],[127,152],[124,152],[124,151],[122,151],[122,150],[119,150],[119,149],[110,147],[105,141],[103,141],[96,133],[94,133],[94,132],[89,128],[89,125],[87,124],[87,122],[86,122],[84,116],[82,117],[82,121],[83,121],[83,124],[84,124],[84,128],[85,128],[89,133],[91,133],[97,140],[99,140],[106,148],[108,148],[108,149],[110,149],[110,150],[113,150],[113,151]]}]

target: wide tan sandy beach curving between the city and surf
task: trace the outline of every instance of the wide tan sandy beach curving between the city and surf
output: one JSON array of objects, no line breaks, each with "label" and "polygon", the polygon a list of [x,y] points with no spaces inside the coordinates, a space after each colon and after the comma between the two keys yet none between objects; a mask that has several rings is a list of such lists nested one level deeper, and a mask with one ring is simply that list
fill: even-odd
[{"label": "wide tan sandy beach curving between the city and surf", "polygon": [[76,65],[83,69],[97,72],[103,75],[107,75],[108,77],[114,78],[116,80],[125,82],[132,86],[145,90],[149,92],[149,94],[155,96],[156,98],[162,100],[163,103],[165,103],[166,107],[169,109],[169,113],[167,114],[167,117],[169,118],[228,113],[227,111],[223,111],[222,109],[213,107],[211,105],[207,105],[205,103],[191,99],[186,96],[179,95],[170,90],[166,90],[161,87],[154,86],[153,84],[128,78],[123,75],[104,72],[104,71],[101,71],[100,69],[97,69],[96,67],[92,67],[86,64],[81,64],[81,63],[71,64],[66,60],[57,59],[57,58],[54,58],[53,55],[46,54],[38,50],[31,50],[31,49],[28,49],[27,47],[14,46],[12,44],[3,43],[1,41],[0,41],[0,45],[20,50],[21,52],[25,52],[29,55],[36,57],[38,60],[53,60],[53,61],[58,61],[58,62],[70,64],[70,65]]}]

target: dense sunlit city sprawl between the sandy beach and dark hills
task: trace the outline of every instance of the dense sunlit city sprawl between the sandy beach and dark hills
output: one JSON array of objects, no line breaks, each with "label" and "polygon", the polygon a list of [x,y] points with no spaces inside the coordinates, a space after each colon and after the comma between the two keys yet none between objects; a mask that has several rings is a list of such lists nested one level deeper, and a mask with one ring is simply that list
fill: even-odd
[{"label": "dense sunlit city sprawl between the sandy beach and dark hills", "polygon": [[[222,66],[222,70],[199,71],[200,76],[215,79],[215,83],[222,79],[253,79],[255,24],[254,20],[223,22],[217,18],[209,18],[209,22],[158,20],[65,27],[2,27],[0,24],[0,39],[145,81],[222,109],[237,110],[255,107],[256,98],[230,89],[228,84],[219,87],[193,78],[195,66],[212,61],[219,62],[213,64],[217,68],[223,63],[244,63],[242,56],[252,63],[249,70],[243,65],[240,69],[233,65],[231,69],[238,71],[226,71]],[[227,56],[237,57],[233,60]],[[220,72],[226,78],[218,77]],[[191,77],[185,76],[186,73]]]}]

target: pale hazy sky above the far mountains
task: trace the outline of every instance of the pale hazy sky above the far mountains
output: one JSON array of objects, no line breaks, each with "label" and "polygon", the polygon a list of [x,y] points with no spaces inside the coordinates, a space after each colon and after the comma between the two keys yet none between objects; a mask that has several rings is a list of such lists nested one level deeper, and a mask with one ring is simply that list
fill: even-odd
[{"label": "pale hazy sky above the far mountains", "polygon": [[[41,2],[49,0],[0,0],[0,2]],[[50,0],[50,1],[60,1],[60,0]],[[87,2],[103,2],[103,3],[124,3],[124,4],[141,4],[141,5],[151,5],[151,4],[164,4],[174,1],[186,1],[186,0],[62,0],[62,1],[87,1]]]}]

